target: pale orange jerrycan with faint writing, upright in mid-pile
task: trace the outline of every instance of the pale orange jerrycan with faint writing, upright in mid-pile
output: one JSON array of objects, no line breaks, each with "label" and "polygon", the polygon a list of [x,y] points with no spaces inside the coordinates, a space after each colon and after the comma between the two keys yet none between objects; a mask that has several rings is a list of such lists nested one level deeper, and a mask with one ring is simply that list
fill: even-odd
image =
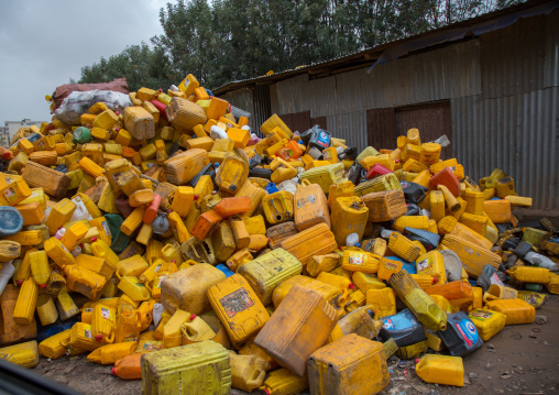
[{"label": "pale orange jerrycan with faint writing, upright in mid-pile", "polygon": [[330,228],[330,210],[326,195],[317,184],[305,180],[293,195],[295,227],[300,232],[325,222]]}]

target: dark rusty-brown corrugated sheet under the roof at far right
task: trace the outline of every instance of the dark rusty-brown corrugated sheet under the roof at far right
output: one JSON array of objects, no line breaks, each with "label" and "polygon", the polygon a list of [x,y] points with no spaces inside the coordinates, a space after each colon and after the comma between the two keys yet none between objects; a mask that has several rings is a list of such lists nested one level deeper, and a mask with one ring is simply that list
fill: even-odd
[{"label": "dark rusty-brown corrugated sheet under the roof at far right", "polygon": [[[481,35],[483,96],[504,97],[552,86],[546,81],[557,74],[559,61],[552,55],[557,54],[558,23],[559,11],[555,11],[549,15],[520,19],[512,26]],[[548,36],[553,31],[556,35]],[[555,44],[549,43],[550,40]],[[549,50],[551,52],[547,53]]]}]

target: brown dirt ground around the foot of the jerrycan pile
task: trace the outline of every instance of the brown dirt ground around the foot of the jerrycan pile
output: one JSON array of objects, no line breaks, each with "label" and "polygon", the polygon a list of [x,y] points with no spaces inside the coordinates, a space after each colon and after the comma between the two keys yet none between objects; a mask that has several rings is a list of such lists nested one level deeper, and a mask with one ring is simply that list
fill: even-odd
[{"label": "brown dirt ground around the foot of the jerrycan pile", "polygon": [[[464,358],[465,385],[451,387],[424,383],[413,361],[390,360],[391,384],[382,394],[518,394],[559,393],[559,297],[548,295],[536,316],[546,323],[507,326],[481,349]],[[86,360],[85,355],[56,361],[41,358],[34,369],[57,383],[84,394],[140,394],[141,381],[111,376],[111,366]],[[246,394],[233,389],[232,394]],[[195,394],[195,393],[193,393]],[[254,394],[261,394],[255,391]]]}]

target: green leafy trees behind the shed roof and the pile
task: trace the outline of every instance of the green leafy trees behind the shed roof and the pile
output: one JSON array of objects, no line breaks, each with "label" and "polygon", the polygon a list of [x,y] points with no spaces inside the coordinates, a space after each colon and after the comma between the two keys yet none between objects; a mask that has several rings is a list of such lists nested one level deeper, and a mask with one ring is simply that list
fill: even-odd
[{"label": "green leafy trees behind the shed roof and the pile", "polygon": [[522,0],[177,0],[151,45],[81,68],[79,83],[127,77],[166,89],[191,73],[208,88],[324,62]]}]

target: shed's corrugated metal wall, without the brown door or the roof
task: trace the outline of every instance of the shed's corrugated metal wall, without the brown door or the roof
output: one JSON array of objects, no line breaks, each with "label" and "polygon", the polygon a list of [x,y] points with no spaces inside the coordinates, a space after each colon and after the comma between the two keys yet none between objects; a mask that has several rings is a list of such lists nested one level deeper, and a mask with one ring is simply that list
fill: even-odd
[{"label": "shed's corrugated metal wall, without the brown door or the roof", "polygon": [[[503,168],[538,209],[559,207],[559,11],[373,68],[272,85],[272,113],[327,117],[366,146],[366,110],[450,100],[452,153],[475,179]],[[245,92],[228,94],[234,106]],[[233,100],[234,97],[234,100]],[[239,105],[237,103],[239,102]],[[250,103],[253,109],[252,102]],[[244,108],[251,111],[249,108]],[[395,143],[395,142],[394,142]],[[379,147],[380,149],[380,147]]]}]

